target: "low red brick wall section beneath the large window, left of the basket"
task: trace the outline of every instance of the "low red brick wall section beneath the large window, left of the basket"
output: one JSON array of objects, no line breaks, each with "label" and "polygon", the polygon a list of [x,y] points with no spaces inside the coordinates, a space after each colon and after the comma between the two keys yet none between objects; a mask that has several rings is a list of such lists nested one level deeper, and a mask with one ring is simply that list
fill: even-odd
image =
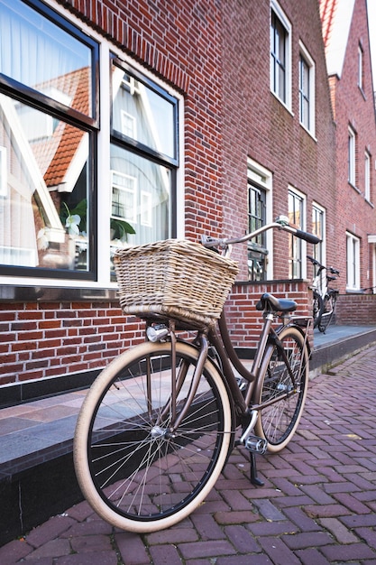
[{"label": "low red brick wall section beneath the large window, left of the basket", "polygon": [[104,367],[142,341],[118,302],[0,302],[0,384]]}]

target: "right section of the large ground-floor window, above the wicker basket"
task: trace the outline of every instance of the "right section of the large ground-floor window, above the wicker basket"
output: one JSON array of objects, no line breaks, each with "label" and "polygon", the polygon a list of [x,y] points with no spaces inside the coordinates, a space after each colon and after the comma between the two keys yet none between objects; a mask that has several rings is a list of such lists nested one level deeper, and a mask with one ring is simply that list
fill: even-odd
[{"label": "right section of the large ground-floor window, above the wicker basket", "polygon": [[174,235],[177,101],[114,60],[111,255]]}]

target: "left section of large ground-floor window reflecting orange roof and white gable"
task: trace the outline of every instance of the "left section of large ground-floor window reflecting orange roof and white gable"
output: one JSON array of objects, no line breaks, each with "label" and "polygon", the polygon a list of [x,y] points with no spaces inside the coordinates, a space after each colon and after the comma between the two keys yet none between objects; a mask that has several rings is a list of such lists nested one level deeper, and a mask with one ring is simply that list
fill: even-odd
[{"label": "left section of large ground-floor window reflecting orange roof and white gable", "polygon": [[93,278],[98,46],[39,7],[0,5],[0,264]]}]

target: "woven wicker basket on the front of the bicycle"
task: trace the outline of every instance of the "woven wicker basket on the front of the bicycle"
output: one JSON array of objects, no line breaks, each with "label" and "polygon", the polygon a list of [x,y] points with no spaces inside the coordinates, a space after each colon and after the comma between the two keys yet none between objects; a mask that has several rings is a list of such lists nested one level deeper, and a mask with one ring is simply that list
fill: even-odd
[{"label": "woven wicker basket on the front of the bicycle", "polygon": [[178,239],[119,250],[114,263],[124,314],[194,327],[216,322],[238,273],[234,261]]}]

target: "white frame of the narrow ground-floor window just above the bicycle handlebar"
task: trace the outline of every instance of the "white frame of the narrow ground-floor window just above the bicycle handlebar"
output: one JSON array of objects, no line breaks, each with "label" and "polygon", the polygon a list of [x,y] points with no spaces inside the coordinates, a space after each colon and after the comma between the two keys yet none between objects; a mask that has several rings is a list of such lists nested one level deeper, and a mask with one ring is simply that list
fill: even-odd
[{"label": "white frame of the narrow ground-floor window just above the bicycle handlebar", "polygon": [[[273,175],[269,169],[263,167],[259,162],[253,161],[250,157],[247,159],[247,178],[254,181],[266,192],[266,223],[271,224],[273,221]],[[266,280],[273,279],[273,230],[268,229],[266,232],[266,247],[269,251],[268,261],[265,268]]]}]

